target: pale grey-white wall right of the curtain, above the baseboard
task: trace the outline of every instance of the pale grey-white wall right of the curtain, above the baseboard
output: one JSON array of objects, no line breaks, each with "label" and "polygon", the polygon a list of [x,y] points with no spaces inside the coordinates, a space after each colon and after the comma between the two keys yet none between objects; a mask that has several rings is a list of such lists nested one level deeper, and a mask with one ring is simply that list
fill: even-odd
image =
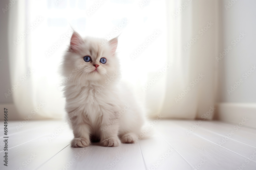
[{"label": "pale grey-white wall right of the curtain, above the baseboard", "polygon": [[[252,65],[256,66],[256,1],[232,0],[235,2],[230,8],[225,8],[231,0],[223,0],[220,4],[222,34],[220,51],[231,46],[232,49],[218,62],[219,66],[219,98],[218,102],[256,103],[256,70],[245,79]],[[221,24],[220,24],[221,25]],[[235,46],[231,42],[246,34]],[[242,36],[241,36],[242,37]],[[233,93],[227,90],[242,79],[243,82]]]}]

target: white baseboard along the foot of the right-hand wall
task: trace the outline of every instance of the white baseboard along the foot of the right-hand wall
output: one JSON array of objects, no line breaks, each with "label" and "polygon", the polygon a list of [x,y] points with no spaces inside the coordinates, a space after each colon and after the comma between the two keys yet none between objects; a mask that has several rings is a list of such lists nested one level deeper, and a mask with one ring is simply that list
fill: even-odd
[{"label": "white baseboard along the foot of the right-hand wall", "polygon": [[240,123],[256,128],[256,103],[217,103],[216,118],[221,121]]}]

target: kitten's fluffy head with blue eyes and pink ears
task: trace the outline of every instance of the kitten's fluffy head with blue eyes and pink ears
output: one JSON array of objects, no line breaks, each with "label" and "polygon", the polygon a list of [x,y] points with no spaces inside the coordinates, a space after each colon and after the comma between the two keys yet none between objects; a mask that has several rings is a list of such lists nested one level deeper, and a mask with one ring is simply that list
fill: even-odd
[{"label": "kitten's fluffy head with blue eyes and pink ears", "polygon": [[[104,43],[100,38],[82,38],[73,32],[68,53],[62,64],[62,75],[72,77],[74,83],[106,82],[119,73],[119,60],[115,56],[117,37]],[[104,44],[104,45],[103,45]]]}]

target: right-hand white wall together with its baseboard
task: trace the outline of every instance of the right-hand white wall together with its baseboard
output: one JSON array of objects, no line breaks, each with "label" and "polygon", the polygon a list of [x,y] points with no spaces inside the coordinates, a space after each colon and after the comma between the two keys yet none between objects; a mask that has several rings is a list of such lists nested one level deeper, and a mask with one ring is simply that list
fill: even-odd
[{"label": "right-hand white wall together with its baseboard", "polygon": [[[256,128],[256,70],[250,70],[254,70],[251,66],[256,66],[256,1],[220,2],[219,53],[224,49],[228,53],[217,62],[219,93],[215,116],[218,120],[236,124],[246,118],[244,125]],[[239,40],[239,36],[242,39]],[[237,43],[234,41],[236,38]],[[229,46],[231,50],[227,50]],[[247,72],[249,76],[245,74]],[[241,83],[236,85],[239,80]]]}]

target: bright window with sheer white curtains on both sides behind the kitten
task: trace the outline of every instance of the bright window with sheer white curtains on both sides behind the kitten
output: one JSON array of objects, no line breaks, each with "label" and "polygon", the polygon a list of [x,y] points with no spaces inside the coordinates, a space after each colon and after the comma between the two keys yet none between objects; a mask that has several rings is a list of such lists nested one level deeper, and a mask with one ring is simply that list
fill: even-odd
[{"label": "bright window with sheer white curtains on both sides behind the kitten", "polygon": [[[173,17],[185,2],[188,5]],[[57,71],[69,44],[70,25],[82,36],[109,39],[121,34],[117,51],[123,79],[135,86],[149,116],[162,114],[166,118],[193,119],[214,105],[216,1],[97,3],[20,0],[10,9],[11,82],[20,82],[12,95],[22,117],[30,114],[32,119],[60,118],[65,114],[63,82]],[[207,22],[213,25],[200,35],[198,31],[207,27]],[[200,38],[185,51],[183,46],[196,35]],[[30,73],[30,69],[33,73],[21,81],[20,77]],[[203,79],[175,101],[183,90],[191,87],[190,82],[195,81],[198,74],[203,74]],[[34,109],[36,114],[31,114]]]}]

